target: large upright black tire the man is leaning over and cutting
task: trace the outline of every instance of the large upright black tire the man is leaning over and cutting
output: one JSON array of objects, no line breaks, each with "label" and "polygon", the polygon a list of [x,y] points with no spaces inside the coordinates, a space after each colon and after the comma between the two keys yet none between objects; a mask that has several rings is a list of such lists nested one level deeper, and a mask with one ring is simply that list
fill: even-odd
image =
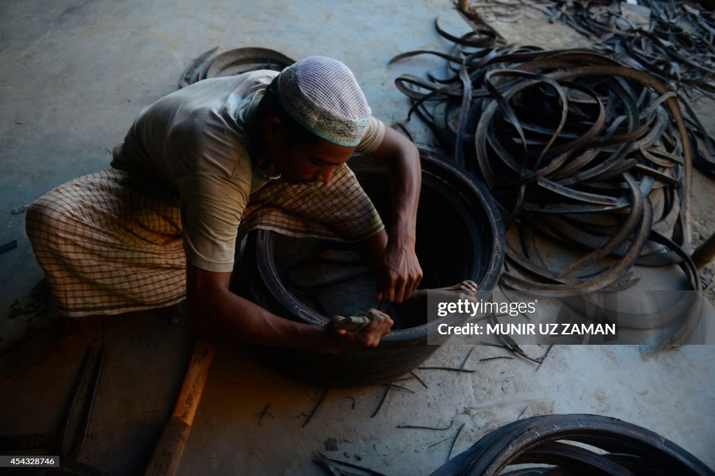
[{"label": "large upright black tire the man is leaning over and cutting", "polygon": [[[479,284],[477,298],[485,299],[498,281],[504,259],[504,232],[495,202],[473,177],[428,152],[421,151],[420,158],[423,185],[416,249],[425,269],[420,288],[473,279]],[[349,165],[389,227],[387,164],[369,157],[353,157]],[[275,260],[277,238],[267,230],[250,235],[242,264],[242,269],[251,273],[250,297],[287,319],[325,324],[330,316],[297,299],[280,278]],[[426,272],[428,269],[435,269],[434,275]],[[439,324],[453,320],[455,317],[413,322],[393,329],[378,347],[354,352],[317,354],[277,347],[256,350],[268,365],[297,380],[329,386],[375,385],[418,367],[438,349],[438,345],[427,343],[428,335],[434,334]]]}]

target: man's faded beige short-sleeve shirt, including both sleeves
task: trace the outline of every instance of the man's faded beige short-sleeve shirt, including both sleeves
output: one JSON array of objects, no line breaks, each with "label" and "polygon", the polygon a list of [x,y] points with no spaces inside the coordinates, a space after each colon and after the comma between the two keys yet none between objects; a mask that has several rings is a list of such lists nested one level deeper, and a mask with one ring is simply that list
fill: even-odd
[{"label": "man's faded beige short-sleeve shirt, including both sleeves", "polygon": [[[250,194],[269,180],[247,150],[254,111],[276,71],[204,79],[139,113],[112,165],[172,189],[182,204],[187,259],[212,272],[233,269],[238,225]],[[371,118],[358,152],[385,136]]]}]

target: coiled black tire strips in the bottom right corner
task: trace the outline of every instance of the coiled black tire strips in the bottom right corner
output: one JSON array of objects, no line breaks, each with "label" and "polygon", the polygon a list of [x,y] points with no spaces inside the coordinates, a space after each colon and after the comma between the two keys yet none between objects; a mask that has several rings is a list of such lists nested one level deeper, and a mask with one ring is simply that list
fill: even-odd
[{"label": "coiled black tire strips in the bottom right corner", "polygon": [[[551,466],[503,473],[510,465],[529,464]],[[651,430],[612,417],[572,414],[530,417],[504,425],[432,476],[501,474],[712,476],[715,472]]]}]

